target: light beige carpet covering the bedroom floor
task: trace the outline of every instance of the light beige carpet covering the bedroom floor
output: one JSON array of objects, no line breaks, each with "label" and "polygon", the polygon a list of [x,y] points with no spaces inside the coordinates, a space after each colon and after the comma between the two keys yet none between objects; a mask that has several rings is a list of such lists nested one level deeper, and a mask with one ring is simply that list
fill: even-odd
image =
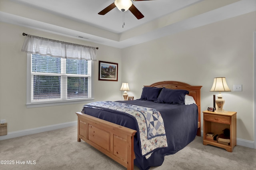
[{"label": "light beige carpet covering the bedroom floor", "polygon": [[[0,141],[1,170],[124,170],[68,127]],[[22,164],[24,161],[25,164]],[[30,164],[28,164],[30,163]],[[134,169],[138,170],[137,167]],[[235,146],[233,152],[202,144],[202,137],[150,170],[256,170],[256,150]]]}]

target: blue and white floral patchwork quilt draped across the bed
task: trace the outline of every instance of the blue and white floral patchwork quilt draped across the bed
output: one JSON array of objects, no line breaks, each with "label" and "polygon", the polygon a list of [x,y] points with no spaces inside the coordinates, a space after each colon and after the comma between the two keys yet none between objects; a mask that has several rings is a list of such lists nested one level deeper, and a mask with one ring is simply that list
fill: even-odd
[{"label": "blue and white floral patchwork quilt draped across the bed", "polygon": [[142,156],[147,158],[153,150],[167,147],[164,121],[159,111],[127,103],[98,101],[84,105],[94,109],[110,109],[134,117],[138,123]]}]

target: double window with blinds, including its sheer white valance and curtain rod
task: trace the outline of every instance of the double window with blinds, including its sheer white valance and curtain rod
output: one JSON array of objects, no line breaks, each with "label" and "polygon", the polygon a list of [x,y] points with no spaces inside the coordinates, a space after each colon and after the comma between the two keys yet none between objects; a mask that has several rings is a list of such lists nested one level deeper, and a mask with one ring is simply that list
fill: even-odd
[{"label": "double window with blinds, including its sheer white valance and curtain rod", "polygon": [[26,34],[21,51],[27,53],[27,108],[92,99],[96,49]]}]

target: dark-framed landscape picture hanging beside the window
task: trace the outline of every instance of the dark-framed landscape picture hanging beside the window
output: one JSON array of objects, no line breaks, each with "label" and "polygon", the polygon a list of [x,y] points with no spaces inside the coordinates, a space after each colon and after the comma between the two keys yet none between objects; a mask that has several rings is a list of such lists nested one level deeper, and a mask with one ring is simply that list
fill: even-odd
[{"label": "dark-framed landscape picture hanging beside the window", "polygon": [[99,61],[99,80],[118,81],[118,63]]}]

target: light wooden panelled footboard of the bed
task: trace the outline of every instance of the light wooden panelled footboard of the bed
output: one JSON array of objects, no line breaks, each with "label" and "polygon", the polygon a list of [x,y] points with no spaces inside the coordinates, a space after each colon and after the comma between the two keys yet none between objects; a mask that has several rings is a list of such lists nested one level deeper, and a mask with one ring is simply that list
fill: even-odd
[{"label": "light wooden panelled footboard of the bed", "polygon": [[78,142],[81,139],[128,170],[134,168],[134,135],[137,132],[102,119],[76,112]]}]

